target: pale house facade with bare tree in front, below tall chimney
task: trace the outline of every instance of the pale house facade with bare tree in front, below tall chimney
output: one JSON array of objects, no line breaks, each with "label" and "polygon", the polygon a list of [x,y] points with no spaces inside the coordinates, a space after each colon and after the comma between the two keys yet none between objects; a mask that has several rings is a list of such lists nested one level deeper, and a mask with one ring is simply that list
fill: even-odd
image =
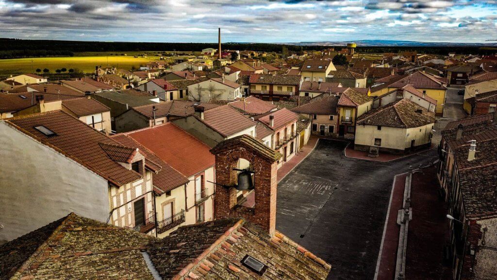
[{"label": "pale house facade with bare tree in front, below tall chimney", "polygon": [[[200,85],[200,93],[198,92]],[[213,95],[209,96],[209,87],[213,87]],[[200,95],[200,96],[199,96]],[[211,100],[231,100],[242,97],[241,87],[232,88],[214,80],[207,80],[188,86],[188,99],[202,103],[209,103]]]}]

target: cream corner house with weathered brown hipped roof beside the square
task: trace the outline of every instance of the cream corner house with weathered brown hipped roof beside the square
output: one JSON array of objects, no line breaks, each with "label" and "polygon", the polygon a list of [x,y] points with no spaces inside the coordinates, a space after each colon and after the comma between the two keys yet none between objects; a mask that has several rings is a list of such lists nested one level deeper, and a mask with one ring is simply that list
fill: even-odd
[{"label": "cream corner house with weathered brown hipped roof beside the square", "polygon": [[403,98],[357,118],[354,149],[404,154],[431,144],[435,114]]}]

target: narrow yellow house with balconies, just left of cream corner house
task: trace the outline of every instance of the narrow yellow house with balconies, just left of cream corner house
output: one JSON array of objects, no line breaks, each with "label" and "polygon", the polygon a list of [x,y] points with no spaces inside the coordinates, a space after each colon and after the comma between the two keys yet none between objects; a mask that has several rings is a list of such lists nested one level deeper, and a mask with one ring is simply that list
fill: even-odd
[{"label": "narrow yellow house with balconies, just left of cream corner house", "polygon": [[373,109],[374,98],[351,88],[345,90],[338,100],[338,136],[353,139],[355,121]]}]

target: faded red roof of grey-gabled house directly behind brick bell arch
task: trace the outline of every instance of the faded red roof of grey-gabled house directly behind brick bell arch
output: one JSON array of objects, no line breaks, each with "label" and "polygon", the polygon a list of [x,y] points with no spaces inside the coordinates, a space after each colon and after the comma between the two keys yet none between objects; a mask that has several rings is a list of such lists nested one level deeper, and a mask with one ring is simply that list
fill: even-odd
[{"label": "faded red roof of grey-gabled house directly behind brick bell arch", "polygon": [[202,122],[223,137],[229,137],[256,125],[255,122],[229,105],[205,111]]}]

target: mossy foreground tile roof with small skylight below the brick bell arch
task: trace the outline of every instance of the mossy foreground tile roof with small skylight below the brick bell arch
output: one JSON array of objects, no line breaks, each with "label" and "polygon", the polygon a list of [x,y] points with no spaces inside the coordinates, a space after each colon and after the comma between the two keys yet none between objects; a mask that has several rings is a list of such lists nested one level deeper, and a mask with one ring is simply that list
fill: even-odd
[{"label": "mossy foreground tile roof with small skylight below the brick bell arch", "polygon": [[[280,232],[270,237],[244,220],[183,226],[175,233],[155,240],[148,250],[163,279],[188,276],[213,280],[324,280],[331,269]],[[262,275],[242,264],[247,255],[267,266]]]}]

